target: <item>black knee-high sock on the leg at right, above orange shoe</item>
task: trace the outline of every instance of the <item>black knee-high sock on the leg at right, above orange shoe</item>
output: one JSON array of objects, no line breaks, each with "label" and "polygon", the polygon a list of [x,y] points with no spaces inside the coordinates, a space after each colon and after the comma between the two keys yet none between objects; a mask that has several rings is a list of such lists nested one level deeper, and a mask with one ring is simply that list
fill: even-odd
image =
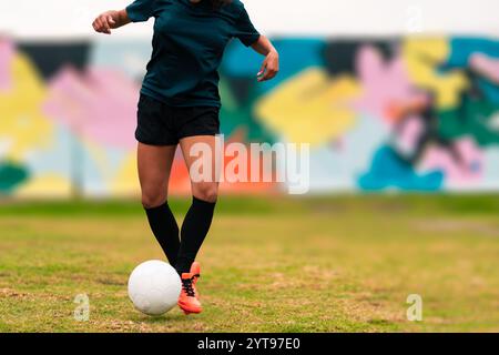
[{"label": "black knee-high sock on the leg at right, above orange shoe", "polygon": [[182,224],[181,247],[175,267],[180,275],[190,272],[191,264],[196,258],[212,225],[214,210],[215,203],[193,197],[192,205]]}]

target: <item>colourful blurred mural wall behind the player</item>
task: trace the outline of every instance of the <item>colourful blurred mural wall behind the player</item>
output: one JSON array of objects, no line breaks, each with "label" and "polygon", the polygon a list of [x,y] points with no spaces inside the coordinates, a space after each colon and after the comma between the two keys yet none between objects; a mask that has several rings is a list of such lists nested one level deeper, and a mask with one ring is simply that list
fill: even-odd
[{"label": "colourful blurred mural wall behind the player", "polygon": [[[222,131],[312,144],[312,192],[499,190],[499,41],[275,39],[278,78],[238,43],[221,68]],[[0,39],[0,193],[139,191],[135,112],[149,40]],[[187,193],[175,158],[171,191]],[[273,184],[232,184],[268,192]]]}]

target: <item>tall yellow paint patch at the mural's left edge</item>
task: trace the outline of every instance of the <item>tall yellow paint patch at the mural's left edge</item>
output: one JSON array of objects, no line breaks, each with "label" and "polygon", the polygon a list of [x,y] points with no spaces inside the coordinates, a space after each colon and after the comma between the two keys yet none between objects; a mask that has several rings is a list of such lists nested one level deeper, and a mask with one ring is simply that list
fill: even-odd
[{"label": "tall yellow paint patch at the mural's left edge", "polygon": [[0,140],[10,142],[6,158],[21,161],[51,144],[53,124],[42,114],[45,88],[31,62],[18,54],[11,65],[13,87],[0,93]]}]

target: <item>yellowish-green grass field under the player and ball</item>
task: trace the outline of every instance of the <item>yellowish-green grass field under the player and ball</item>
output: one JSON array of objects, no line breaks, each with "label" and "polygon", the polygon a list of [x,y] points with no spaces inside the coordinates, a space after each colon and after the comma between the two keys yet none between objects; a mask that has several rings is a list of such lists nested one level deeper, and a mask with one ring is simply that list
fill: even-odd
[{"label": "yellowish-green grass field under the player and ball", "polygon": [[6,203],[0,332],[498,332],[498,195],[222,197],[198,258],[205,312],[147,317],[126,281],[162,253],[138,202]]}]

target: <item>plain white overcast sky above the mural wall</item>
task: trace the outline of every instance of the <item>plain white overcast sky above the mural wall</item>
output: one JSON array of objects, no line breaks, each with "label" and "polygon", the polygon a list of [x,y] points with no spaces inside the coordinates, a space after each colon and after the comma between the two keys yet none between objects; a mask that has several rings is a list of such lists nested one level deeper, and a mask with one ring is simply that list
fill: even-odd
[{"label": "plain white overcast sky above the mural wall", "polygon": [[[0,33],[17,38],[93,36],[90,23],[126,0],[0,0]],[[268,34],[499,36],[499,0],[245,0],[257,26]],[[150,36],[151,23],[119,31],[118,37]]]}]

